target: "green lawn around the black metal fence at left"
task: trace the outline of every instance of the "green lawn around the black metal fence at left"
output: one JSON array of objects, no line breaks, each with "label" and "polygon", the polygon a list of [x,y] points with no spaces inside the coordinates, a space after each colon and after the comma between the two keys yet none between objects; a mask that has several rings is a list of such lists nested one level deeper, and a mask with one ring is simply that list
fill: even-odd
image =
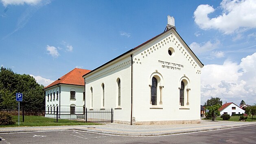
[{"label": "green lawn around the black metal fence at left", "polygon": [[[18,116],[13,116],[13,120],[16,121],[15,124],[0,125],[0,127],[18,127]],[[56,118],[46,118],[44,116],[24,116],[24,122],[22,122],[22,116],[20,116],[20,127],[92,125],[92,124],[99,124],[99,123],[77,122],[77,120],[67,120],[67,119],[58,119],[58,122],[56,122]]]}]

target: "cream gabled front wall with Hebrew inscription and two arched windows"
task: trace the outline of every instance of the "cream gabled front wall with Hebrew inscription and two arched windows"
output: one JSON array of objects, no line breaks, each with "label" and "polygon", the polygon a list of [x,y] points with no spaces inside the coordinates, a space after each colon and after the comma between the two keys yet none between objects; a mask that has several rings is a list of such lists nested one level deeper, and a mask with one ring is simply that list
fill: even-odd
[{"label": "cream gabled front wall with Hebrew inscription and two arched windows", "polygon": [[[133,117],[140,121],[200,120],[201,67],[174,32],[168,32],[134,54]],[[168,50],[172,50],[170,56]],[[157,105],[150,104],[152,77],[158,79]],[[181,81],[187,82],[184,106],[179,104]],[[160,104],[160,87],[162,103]],[[188,101],[188,105],[187,105]]]}]

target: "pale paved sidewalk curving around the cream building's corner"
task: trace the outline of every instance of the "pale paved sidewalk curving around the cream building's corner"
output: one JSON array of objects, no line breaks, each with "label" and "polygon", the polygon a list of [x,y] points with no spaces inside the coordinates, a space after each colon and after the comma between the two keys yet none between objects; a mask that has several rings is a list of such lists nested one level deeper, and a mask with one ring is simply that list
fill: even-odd
[{"label": "pale paved sidewalk curving around the cream building's corner", "polygon": [[126,125],[106,123],[103,125],[78,125],[78,126],[52,126],[52,127],[6,127],[0,128],[0,133],[25,132],[25,131],[56,131],[56,130],[81,130],[96,133],[127,136],[156,136],[210,131],[256,125],[256,122],[230,122],[201,120],[200,124],[169,124],[169,125]]}]

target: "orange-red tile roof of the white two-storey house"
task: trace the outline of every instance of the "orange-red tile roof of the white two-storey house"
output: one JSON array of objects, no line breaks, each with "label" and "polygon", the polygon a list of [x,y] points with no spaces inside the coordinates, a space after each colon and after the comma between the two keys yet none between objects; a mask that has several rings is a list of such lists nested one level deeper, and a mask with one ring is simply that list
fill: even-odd
[{"label": "orange-red tile roof of the white two-storey house", "polygon": [[52,87],[57,84],[69,84],[69,85],[82,85],[84,86],[84,79],[83,75],[90,72],[91,70],[85,70],[80,68],[74,68],[64,76],[61,76],[61,78],[57,79],[50,85],[44,87],[44,89]]}]

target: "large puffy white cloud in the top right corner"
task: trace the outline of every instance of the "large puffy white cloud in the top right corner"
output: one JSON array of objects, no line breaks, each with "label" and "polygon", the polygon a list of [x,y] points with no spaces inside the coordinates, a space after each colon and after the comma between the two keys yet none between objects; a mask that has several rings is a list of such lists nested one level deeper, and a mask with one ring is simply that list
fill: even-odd
[{"label": "large puffy white cloud in the top right corner", "polygon": [[256,28],[256,0],[223,0],[220,4],[222,15],[209,18],[215,9],[208,4],[201,4],[194,12],[195,23],[203,30],[217,29],[231,34],[239,28]]}]

